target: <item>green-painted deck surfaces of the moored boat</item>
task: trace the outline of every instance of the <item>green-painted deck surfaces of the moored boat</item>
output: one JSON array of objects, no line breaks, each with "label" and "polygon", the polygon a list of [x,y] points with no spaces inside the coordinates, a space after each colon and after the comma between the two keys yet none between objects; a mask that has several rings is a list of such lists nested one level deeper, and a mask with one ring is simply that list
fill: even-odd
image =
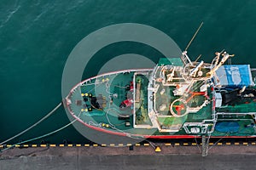
[{"label": "green-painted deck surfaces of the moored boat", "polygon": [[[162,63],[166,63],[166,60],[162,60]],[[203,106],[200,111],[189,112],[185,116],[172,116],[170,112],[170,104],[178,99],[174,96],[172,86],[163,86],[159,83],[158,92],[164,90],[165,93],[156,93],[155,99],[157,102],[154,107],[159,111],[158,122],[160,127],[167,127],[170,129],[179,129],[177,132],[159,132],[156,127],[150,127],[153,125],[148,116],[148,78],[151,71],[144,72],[147,74],[137,73],[135,82],[140,83],[140,92],[137,94],[136,89],[134,91],[127,90],[130,82],[133,81],[135,72],[117,73],[107,75],[104,77],[97,77],[91,79],[90,82],[84,82],[84,85],[76,88],[73,94],[69,97],[71,99],[71,105],[69,106],[71,111],[79,117],[84,123],[91,126],[101,127],[112,132],[119,133],[131,133],[140,135],[195,135],[188,134],[183,128],[184,123],[204,122],[205,120],[212,120],[212,115],[216,112],[212,111],[212,102]],[[198,84],[201,82],[195,82],[191,90],[198,92]],[[133,84],[137,88],[137,84]],[[127,98],[133,97],[133,94],[139,95],[139,101],[134,101],[134,105],[127,107],[125,110],[120,110],[119,105]],[[212,99],[211,88],[207,88],[208,98]],[[90,102],[91,97],[101,97],[102,108],[96,108]],[[189,99],[191,94],[188,94],[184,99]],[[201,105],[205,100],[205,96],[195,95],[192,99],[188,100],[187,105],[190,108],[195,108]],[[181,104],[179,104],[181,105]],[[161,108],[161,109],[160,109]],[[135,116],[134,116],[135,110]],[[224,108],[218,108],[217,112],[248,112],[256,111],[255,102],[252,100],[250,103],[241,104],[236,107],[227,106]],[[183,113],[181,113],[183,114]],[[238,122],[239,132],[237,133],[220,133],[214,131],[211,135],[216,137],[221,136],[252,136],[255,134],[254,127],[247,127],[252,124],[253,116],[227,116],[218,115],[219,122]],[[135,119],[135,120],[134,120]],[[130,123],[130,126],[127,123]],[[107,126],[106,126],[107,125]],[[133,127],[133,125],[147,125],[145,127]],[[210,128],[212,127],[212,124]],[[197,134],[198,135],[198,134]],[[199,134],[200,135],[200,134]]]}]

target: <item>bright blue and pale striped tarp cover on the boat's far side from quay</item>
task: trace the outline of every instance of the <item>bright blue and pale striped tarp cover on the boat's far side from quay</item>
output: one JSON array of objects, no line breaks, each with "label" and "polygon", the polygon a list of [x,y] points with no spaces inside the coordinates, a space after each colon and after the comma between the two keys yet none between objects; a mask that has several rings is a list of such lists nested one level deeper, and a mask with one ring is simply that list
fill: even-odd
[{"label": "bright blue and pale striped tarp cover on the boat's far side from quay", "polygon": [[216,74],[218,84],[225,87],[241,88],[254,85],[250,65],[222,65]]}]

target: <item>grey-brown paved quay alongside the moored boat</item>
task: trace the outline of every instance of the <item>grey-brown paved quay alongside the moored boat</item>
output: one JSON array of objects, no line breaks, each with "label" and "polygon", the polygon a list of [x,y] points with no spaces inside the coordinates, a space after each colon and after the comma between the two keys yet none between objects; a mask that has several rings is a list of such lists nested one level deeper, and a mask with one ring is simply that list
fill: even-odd
[{"label": "grey-brown paved quay alongside the moored boat", "polygon": [[206,157],[200,147],[159,144],[129,147],[14,148],[0,153],[0,169],[245,169],[255,168],[256,146],[216,145]]}]

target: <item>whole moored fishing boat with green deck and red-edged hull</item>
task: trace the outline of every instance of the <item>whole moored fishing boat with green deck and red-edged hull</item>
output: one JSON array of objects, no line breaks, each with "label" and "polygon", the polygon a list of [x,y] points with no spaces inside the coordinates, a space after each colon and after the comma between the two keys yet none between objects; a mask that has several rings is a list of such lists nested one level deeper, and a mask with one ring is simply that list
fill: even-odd
[{"label": "whole moored fishing boat with green deck and red-edged hull", "polygon": [[67,109],[86,127],[145,139],[254,138],[256,88],[250,65],[161,58],[153,69],[113,71],[80,82]]}]

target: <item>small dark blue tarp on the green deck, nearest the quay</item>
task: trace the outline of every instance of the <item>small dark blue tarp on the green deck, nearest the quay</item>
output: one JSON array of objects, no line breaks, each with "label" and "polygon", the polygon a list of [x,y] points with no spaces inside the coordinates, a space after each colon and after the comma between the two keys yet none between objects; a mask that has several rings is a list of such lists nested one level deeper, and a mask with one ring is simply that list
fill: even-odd
[{"label": "small dark blue tarp on the green deck, nearest the quay", "polygon": [[215,126],[215,130],[221,133],[237,133],[238,129],[238,122],[217,122]]}]

